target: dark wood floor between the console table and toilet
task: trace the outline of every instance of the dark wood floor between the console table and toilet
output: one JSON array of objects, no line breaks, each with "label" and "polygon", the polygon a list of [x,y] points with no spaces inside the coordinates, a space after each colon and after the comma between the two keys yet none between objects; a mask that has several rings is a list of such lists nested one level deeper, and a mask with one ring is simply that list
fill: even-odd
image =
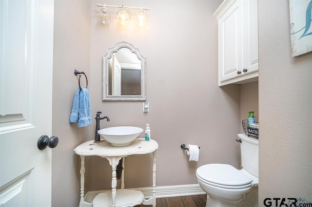
[{"label": "dark wood floor between the console table and toilet", "polygon": [[[156,198],[156,207],[205,207],[207,195]],[[136,207],[153,207],[138,205]]]}]

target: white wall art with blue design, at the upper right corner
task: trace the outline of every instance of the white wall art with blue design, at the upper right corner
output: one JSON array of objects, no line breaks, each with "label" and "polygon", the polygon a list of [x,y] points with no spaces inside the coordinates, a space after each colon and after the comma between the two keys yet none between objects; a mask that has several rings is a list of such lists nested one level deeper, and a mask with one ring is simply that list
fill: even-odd
[{"label": "white wall art with blue design, at the upper right corner", "polygon": [[292,57],[312,51],[312,0],[289,0]]}]

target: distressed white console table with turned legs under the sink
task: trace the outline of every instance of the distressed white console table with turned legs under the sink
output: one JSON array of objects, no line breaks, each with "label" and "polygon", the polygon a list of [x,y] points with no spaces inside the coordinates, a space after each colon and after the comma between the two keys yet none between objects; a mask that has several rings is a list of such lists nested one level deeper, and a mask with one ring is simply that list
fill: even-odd
[{"label": "distressed white console table with turned legs under the sink", "polygon": [[[95,143],[94,140],[80,144],[74,151],[81,158],[80,167],[80,202],[79,207],[91,206],[91,203],[84,201],[84,158],[85,156],[96,155],[108,159],[112,166],[112,190],[99,193],[93,200],[93,207],[129,207],[135,205],[153,205],[156,207],[156,150],[158,143],[151,139],[145,141],[144,138],[135,139],[130,145],[125,147],[113,147],[101,139],[101,142]],[[124,189],[124,176],[122,171],[121,189],[117,190],[116,169],[119,160],[128,155],[144,155],[153,153],[153,196],[149,199],[144,199],[144,195],[139,190]],[[124,165],[124,159],[123,159]]]}]

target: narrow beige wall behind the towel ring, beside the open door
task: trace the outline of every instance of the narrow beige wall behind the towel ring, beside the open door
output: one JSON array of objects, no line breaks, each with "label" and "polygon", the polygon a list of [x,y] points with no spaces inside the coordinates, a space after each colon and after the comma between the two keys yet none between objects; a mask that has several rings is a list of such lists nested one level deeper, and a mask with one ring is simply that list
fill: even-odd
[{"label": "narrow beige wall behind the towel ring, beside the open door", "polygon": [[[74,149],[89,140],[93,130],[69,123],[69,115],[78,88],[74,70],[83,70],[90,78],[91,4],[87,0],[55,0],[54,6],[52,134],[59,137],[59,145],[52,150],[52,206],[77,207],[80,158]],[[82,76],[81,85],[85,84]]]}]

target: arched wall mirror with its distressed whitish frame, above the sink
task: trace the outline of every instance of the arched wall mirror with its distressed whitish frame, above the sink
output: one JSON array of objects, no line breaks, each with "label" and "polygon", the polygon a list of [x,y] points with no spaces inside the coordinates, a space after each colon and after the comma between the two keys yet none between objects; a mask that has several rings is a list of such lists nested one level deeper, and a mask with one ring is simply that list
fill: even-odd
[{"label": "arched wall mirror with its distressed whitish frame, above the sink", "polygon": [[146,57],[128,42],[118,42],[102,59],[103,101],[146,101]]}]

